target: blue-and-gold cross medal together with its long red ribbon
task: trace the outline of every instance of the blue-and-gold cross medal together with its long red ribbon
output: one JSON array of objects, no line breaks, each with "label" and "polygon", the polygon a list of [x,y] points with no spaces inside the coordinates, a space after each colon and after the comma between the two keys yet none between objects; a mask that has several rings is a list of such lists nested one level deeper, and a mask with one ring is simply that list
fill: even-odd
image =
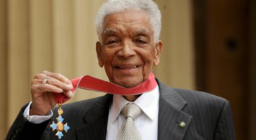
[{"label": "blue-and-gold cross medal together with its long red ribbon", "polygon": [[[92,76],[82,76],[71,79],[70,81],[73,84],[72,93],[75,93],[76,88],[82,88],[86,90],[100,91],[110,94],[137,95],[145,93],[147,91],[152,91],[157,86],[157,82],[153,72],[149,74],[149,78],[146,81],[141,83],[139,86],[135,86],[134,88],[124,88],[122,86],[118,86],[114,83],[110,83],[107,81],[102,81]],[[46,80],[44,80],[43,83],[46,83]],[[61,105],[62,103],[65,103],[65,101],[67,101],[69,98],[66,97],[64,94],[54,94],[54,98],[59,106],[58,117],[56,118],[57,123],[53,121],[53,123],[50,124],[50,127],[53,129],[53,132],[57,130],[57,133],[55,135],[58,136],[58,139],[61,139],[61,137],[64,136],[63,132],[66,134],[68,132],[68,129],[70,129],[70,127],[68,127],[68,123],[63,123],[64,119],[61,116],[63,114]]]}]

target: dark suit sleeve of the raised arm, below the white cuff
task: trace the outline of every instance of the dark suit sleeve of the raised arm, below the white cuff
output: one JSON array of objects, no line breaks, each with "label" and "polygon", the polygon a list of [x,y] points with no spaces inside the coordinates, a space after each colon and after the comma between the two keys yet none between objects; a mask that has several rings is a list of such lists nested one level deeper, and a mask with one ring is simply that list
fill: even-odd
[{"label": "dark suit sleeve of the raised arm, below the white cuff", "polygon": [[21,108],[21,111],[18,113],[18,116],[9,129],[6,140],[41,138],[41,135],[43,134],[44,129],[46,129],[49,120],[42,122],[41,124],[33,124],[28,122],[28,120],[23,116],[23,110],[25,110],[26,107],[27,105]]}]

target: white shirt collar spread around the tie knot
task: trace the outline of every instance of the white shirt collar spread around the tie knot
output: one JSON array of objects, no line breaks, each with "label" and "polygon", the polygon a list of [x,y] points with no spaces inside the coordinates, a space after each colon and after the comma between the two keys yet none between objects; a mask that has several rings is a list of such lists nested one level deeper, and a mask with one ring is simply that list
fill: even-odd
[{"label": "white shirt collar spread around the tie knot", "polygon": [[[124,105],[127,103],[131,102],[126,100],[122,95],[114,95],[112,107],[110,109],[110,119],[112,123],[119,116],[122,107],[124,107]],[[159,107],[159,86],[156,86],[153,91],[149,91],[140,95],[139,98],[134,101],[134,103],[142,109],[147,117],[149,117],[151,120],[154,120],[156,110]]]}]

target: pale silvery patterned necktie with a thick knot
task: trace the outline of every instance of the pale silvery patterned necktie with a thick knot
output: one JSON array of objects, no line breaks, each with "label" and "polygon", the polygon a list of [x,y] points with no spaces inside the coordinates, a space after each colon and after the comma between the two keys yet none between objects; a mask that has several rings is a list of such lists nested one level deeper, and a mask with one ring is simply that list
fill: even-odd
[{"label": "pale silvery patterned necktie with a thick knot", "polygon": [[117,134],[117,140],[142,140],[142,135],[137,129],[134,119],[138,117],[142,110],[134,103],[124,105],[121,111],[125,121]]}]

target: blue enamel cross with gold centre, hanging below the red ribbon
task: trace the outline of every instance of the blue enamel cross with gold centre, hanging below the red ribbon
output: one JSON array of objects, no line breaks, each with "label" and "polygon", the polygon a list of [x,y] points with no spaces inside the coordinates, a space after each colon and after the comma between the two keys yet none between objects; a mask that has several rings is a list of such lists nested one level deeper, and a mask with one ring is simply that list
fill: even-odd
[{"label": "blue enamel cross with gold centre, hanging below the red ribbon", "polygon": [[53,121],[52,124],[50,124],[50,127],[53,129],[53,132],[55,131],[55,129],[57,130],[57,133],[55,134],[56,136],[58,136],[58,139],[61,139],[63,135],[63,132],[67,133],[68,129],[70,129],[70,127],[68,127],[68,123],[63,123],[63,117],[61,116],[63,114],[63,110],[61,109],[61,103],[58,103],[58,117],[57,119],[57,123],[55,124],[55,122]]}]

